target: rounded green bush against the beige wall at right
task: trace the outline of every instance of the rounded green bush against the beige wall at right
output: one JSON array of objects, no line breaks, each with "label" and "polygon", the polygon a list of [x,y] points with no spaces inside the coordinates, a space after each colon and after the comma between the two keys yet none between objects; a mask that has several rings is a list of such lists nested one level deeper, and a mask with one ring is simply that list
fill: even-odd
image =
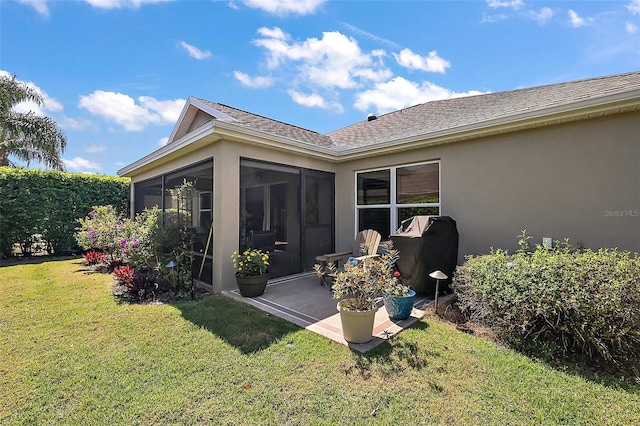
[{"label": "rounded green bush against the beige wall at right", "polygon": [[516,346],[585,355],[639,372],[640,258],[616,249],[573,249],[567,241],[510,255],[470,256],[453,280],[471,321]]}]

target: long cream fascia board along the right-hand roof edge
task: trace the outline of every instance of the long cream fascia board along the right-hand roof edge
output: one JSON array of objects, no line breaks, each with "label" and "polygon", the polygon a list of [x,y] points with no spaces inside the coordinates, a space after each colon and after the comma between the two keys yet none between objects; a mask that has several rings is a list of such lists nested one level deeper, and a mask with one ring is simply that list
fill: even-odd
[{"label": "long cream fascia board along the right-hand roof edge", "polygon": [[569,105],[559,105],[470,125],[452,127],[438,132],[394,141],[385,141],[376,145],[350,148],[334,153],[334,155],[339,162],[344,162],[371,155],[441,145],[638,109],[640,109],[640,89],[587,99]]}]

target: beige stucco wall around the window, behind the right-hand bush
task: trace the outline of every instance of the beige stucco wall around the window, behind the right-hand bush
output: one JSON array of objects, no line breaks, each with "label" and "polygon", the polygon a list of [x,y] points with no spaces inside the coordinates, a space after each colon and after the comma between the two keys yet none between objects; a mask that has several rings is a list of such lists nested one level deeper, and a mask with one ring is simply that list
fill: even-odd
[{"label": "beige stucco wall around the window, behind the right-hand bush", "polygon": [[640,113],[627,113],[341,164],[336,245],[354,235],[355,172],[441,161],[441,212],[457,221],[459,262],[517,249],[522,229],[575,245],[640,252]]}]

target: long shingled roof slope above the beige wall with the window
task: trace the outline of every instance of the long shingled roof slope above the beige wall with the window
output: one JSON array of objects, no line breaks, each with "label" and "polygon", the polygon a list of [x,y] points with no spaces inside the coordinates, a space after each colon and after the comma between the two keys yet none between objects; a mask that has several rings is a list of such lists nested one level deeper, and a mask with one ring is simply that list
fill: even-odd
[{"label": "long shingled roof slope above the beige wall with the window", "polygon": [[432,101],[362,121],[328,134],[334,146],[357,148],[478,125],[640,88],[640,72]]}]

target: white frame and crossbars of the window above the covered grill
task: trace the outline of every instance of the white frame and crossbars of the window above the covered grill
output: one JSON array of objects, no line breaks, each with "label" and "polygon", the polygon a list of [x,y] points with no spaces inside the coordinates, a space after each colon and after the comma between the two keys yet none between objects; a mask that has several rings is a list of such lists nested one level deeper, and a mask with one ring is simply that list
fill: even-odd
[{"label": "white frame and crossbars of the window above the covered grill", "polygon": [[[398,204],[397,203],[397,185],[396,176],[397,170],[404,167],[412,166],[424,166],[426,164],[438,164],[438,202],[437,203],[417,203],[417,204]],[[367,204],[358,205],[358,175],[362,173],[379,172],[383,170],[389,170],[389,185],[390,185],[390,197],[389,204]],[[355,214],[354,214],[354,229],[359,229],[358,218],[360,217],[361,209],[381,209],[386,208],[390,210],[389,217],[389,235],[393,234],[397,228],[394,224],[398,223],[398,209],[399,208],[411,208],[411,207],[437,207],[438,215],[442,214],[442,162],[440,160],[422,161],[419,163],[400,164],[390,167],[379,167],[375,169],[358,170],[354,174],[354,194],[355,194]]]}]

